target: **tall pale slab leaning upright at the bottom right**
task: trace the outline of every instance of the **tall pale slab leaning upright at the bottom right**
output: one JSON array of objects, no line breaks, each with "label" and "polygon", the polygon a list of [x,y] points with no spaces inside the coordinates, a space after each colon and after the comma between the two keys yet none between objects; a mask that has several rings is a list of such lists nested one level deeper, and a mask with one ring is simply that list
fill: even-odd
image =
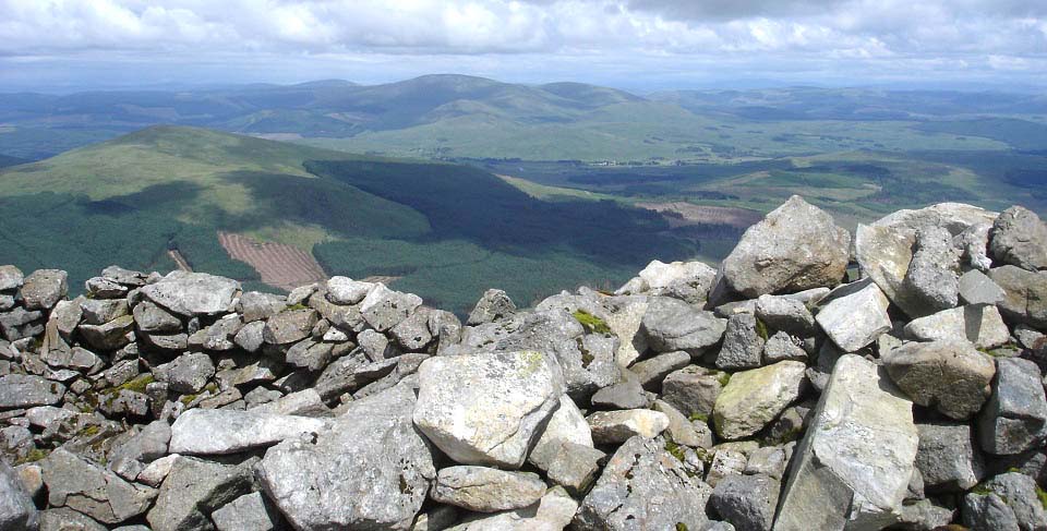
[{"label": "tall pale slab leaning upright at the bottom right", "polygon": [[841,357],[796,447],[774,529],[874,530],[901,517],[918,436],[887,371]]}]

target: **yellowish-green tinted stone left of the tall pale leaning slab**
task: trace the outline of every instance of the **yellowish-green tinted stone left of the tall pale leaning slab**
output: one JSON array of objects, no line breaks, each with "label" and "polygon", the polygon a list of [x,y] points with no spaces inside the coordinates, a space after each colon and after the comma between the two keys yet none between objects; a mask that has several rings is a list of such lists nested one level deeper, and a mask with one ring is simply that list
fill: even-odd
[{"label": "yellowish-green tinted stone left of the tall pale leaning slab", "polygon": [[713,406],[717,435],[733,441],[762,430],[799,398],[806,370],[798,361],[782,361],[734,373]]}]

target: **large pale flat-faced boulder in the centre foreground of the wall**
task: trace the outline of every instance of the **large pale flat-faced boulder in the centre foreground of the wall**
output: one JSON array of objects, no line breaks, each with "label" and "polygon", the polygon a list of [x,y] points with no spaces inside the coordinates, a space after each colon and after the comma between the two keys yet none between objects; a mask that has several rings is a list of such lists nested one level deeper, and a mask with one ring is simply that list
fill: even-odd
[{"label": "large pale flat-faced boulder in the centre foreground of the wall", "polygon": [[564,393],[556,361],[533,351],[430,358],[418,374],[414,424],[462,464],[520,468]]}]

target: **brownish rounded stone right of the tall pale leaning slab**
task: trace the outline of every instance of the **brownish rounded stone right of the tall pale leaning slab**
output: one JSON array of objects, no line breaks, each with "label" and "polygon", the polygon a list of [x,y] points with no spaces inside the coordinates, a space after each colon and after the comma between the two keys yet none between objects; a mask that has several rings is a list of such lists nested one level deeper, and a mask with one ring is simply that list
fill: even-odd
[{"label": "brownish rounded stone right of the tall pale leaning slab", "polygon": [[881,355],[891,379],[914,402],[952,419],[977,413],[989,398],[992,359],[963,340],[911,342]]}]

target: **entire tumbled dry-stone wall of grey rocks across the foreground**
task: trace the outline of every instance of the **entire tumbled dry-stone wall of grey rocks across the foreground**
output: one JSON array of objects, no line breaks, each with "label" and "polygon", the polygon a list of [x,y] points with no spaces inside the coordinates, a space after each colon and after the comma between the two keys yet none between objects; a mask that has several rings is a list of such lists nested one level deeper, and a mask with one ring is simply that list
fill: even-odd
[{"label": "entire tumbled dry-stone wall of grey rocks across the foreground", "polygon": [[1045,269],[1020,207],[852,238],[799,197],[719,271],[465,324],[0,267],[0,529],[1047,530]]}]

